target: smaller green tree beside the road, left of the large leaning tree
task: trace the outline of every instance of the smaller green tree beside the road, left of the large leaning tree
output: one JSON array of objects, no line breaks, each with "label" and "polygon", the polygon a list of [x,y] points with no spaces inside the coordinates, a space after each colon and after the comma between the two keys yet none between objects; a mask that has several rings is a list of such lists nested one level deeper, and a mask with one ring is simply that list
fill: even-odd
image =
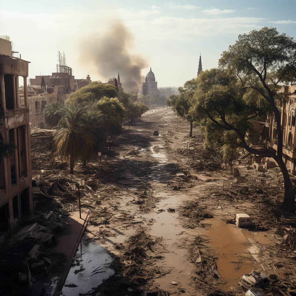
[{"label": "smaller green tree beside the road, left of the large leaning tree", "polygon": [[166,100],[166,104],[179,115],[180,117],[186,119],[190,123],[190,133],[189,137],[192,137],[193,128],[193,118],[190,112],[191,108],[194,106],[193,95],[197,89],[197,80],[193,78],[192,80],[186,81],[184,86],[178,88],[179,95],[170,95]]}]

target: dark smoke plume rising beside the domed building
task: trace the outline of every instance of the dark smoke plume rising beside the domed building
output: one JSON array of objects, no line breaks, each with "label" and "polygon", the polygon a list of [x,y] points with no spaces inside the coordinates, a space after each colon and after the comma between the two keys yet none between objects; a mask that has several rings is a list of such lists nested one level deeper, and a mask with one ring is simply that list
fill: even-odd
[{"label": "dark smoke plume rising beside the domed building", "polygon": [[130,53],[133,35],[122,22],[115,22],[101,35],[93,34],[83,44],[81,61],[106,79],[114,75],[117,78],[119,71],[125,90],[139,88],[145,81],[141,70],[148,64],[143,57]]}]

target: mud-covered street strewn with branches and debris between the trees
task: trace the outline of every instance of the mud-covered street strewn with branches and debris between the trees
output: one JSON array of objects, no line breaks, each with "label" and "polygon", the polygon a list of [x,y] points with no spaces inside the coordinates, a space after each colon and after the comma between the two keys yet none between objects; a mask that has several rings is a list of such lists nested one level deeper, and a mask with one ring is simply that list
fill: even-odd
[{"label": "mud-covered street strewn with branches and debris between the trees", "polygon": [[[265,294],[294,295],[296,221],[277,207],[283,191],[278,168],[258,172],[242,161],[235,163],[240,177],[233,176],[219,149],[204,152],[202,144],[197,129],[189,138],[189,124],[166,109],[114,136],[111,156],[108,147],[102,151],[102,176],[99,159],[69,175],[67,166],[49,164],[36,152],[33,174],[44,187],[57,177],[69,191],[73,181],[86,181],[85,239],[114,259],[108,265],[113,275],[87,293],[73,287],[71,295],[236,295],[244,293],[239,279],[252,269],[270,276]],[[56,194],[54,202],[77,210],[76,194]],[[236,213],[249,214],[253,227],[234,225]],[[104,271],[98,270],[93,276]]]}]

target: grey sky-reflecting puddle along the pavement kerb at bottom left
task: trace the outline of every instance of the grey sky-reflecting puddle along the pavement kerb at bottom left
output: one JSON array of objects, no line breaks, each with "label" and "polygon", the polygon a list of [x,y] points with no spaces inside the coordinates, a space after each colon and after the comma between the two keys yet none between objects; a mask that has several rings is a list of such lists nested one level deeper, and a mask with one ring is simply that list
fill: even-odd
[{"label": "grey sky-reflecting puddle along the pavement kerb at bottom left", "polygon": [[[83,241],[72,261],[79,265],[70,268],[62,289],[63,295],[78,296],[79,293],[91,291],[92,287],[97,287],[104,279],[114,274],[114,271],[108,267],[112,263],[112,258],[106,250],[95,242]],[[98,273],[95,274],[96,272]],[[66,287],[66,285],[78,287]]]}]

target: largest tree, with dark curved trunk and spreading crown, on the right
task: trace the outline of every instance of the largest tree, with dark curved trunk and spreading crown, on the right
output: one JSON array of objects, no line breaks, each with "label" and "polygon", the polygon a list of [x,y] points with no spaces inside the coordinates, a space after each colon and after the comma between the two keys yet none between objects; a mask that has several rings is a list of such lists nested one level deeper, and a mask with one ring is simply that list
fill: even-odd
[{"label": "largest tree, with dark curved trunk and spreading crown, on the right", "polygon": [[[284,178],[282,207],[295,211],[295,189],[283,160],[283,134],[277,98],[279,83],[296,71],[296,42],[276,28],[264,27],[239,35],[219,60],[220,69],[201,73],[195,94],[195,118],[211,120],[221,130],[234,133],[236,145],[261,157],[271,157]],[[234,79],[234,75],[236,79]],[[277,153],[250,146],[252,120],[271,112],[277,126]]]}]

